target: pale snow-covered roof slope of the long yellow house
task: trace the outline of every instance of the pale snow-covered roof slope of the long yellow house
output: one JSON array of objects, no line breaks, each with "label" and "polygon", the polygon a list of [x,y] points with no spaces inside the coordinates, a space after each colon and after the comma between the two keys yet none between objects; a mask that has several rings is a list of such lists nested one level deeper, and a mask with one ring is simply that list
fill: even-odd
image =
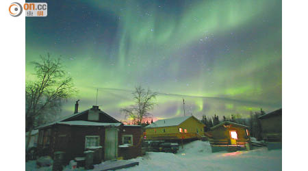
[{"label": "pale snow-covered roof slope of the long yellow house", "polygon": [[182,117],[177,117],[177,118],[170,118],[170,119],[164,119],[164,120],[157,120],[156,122],[153,122],[146,126],[146,128],[155,128],[155,127],[170,127],[170,126],[175,126],[179,125],[188,118],[192,116],[182,116]]}]

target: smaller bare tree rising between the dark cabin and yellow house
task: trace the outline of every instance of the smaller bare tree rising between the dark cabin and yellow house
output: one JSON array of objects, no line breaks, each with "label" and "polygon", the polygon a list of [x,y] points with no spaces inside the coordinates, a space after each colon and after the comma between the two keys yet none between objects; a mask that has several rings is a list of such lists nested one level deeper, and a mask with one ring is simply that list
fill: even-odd
[{"label": "smaller bare tree rising between the dark cabin and yellow house", "polygon": [[157,92],[152,92],[149,88],[144,90],[144,88],[138,86],[132,94],[136,105],[125,107],[120,111],[125,114],[125,118],[131,118],[133,124],[141,124],[144,118],[151,116],[149,111],[154,108],[153,100],[156,98]]}]

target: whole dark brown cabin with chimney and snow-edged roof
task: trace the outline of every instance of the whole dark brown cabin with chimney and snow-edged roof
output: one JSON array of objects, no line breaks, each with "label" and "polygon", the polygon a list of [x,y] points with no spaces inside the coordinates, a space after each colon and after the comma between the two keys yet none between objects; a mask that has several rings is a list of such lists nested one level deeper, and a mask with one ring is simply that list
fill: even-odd
[{"label": "whole dark brown cabin with chimney and snow-edged roof", "polygon": [[[102,160],[141,156],[142,128],[126,126],[98,106],[38,127],[39,155],[65,152],[65,161],[84,157],[86,149],[101,148]],[[127,154],[128,153],[128,154]]]}]

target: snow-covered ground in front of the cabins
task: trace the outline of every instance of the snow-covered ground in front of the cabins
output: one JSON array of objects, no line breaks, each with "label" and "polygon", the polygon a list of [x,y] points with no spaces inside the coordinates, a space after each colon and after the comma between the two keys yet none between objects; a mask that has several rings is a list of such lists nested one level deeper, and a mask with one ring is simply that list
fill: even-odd
[{"label": "snow-covered ground in front of the cabins", "polygon": [[[209,142],[194,141],[185,144],[177,154],[146,153],[143,157],[131,159],[138,161],[139,166],[124,170],[281,170],[282,153],[280,150],[268,150],[259,147],[250,151],[211,153]],[[32,161],[30,161],[32,162]],[[26,166],[30,164],[26,163]],[[101,163],[103,164],[103,163]],[[99,168],[99,166],[95,166]],[[46,168],[49,169],[49,168]],[[26,169],[27,170],[27,169]],[[68,167],[66,167],[68,170]]]}]

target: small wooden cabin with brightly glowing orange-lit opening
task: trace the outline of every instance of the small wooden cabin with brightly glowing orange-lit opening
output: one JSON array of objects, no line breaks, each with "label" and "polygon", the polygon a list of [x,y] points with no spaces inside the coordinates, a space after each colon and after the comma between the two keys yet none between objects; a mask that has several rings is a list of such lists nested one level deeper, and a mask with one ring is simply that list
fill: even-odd
[{"label": "small wooden cabin with brightly glowing orange-lit opening", "polygon": [[224,121],[211,127],[207,132],[212,152],[228,150],[250,150],[249,127],[235,122]]}]

